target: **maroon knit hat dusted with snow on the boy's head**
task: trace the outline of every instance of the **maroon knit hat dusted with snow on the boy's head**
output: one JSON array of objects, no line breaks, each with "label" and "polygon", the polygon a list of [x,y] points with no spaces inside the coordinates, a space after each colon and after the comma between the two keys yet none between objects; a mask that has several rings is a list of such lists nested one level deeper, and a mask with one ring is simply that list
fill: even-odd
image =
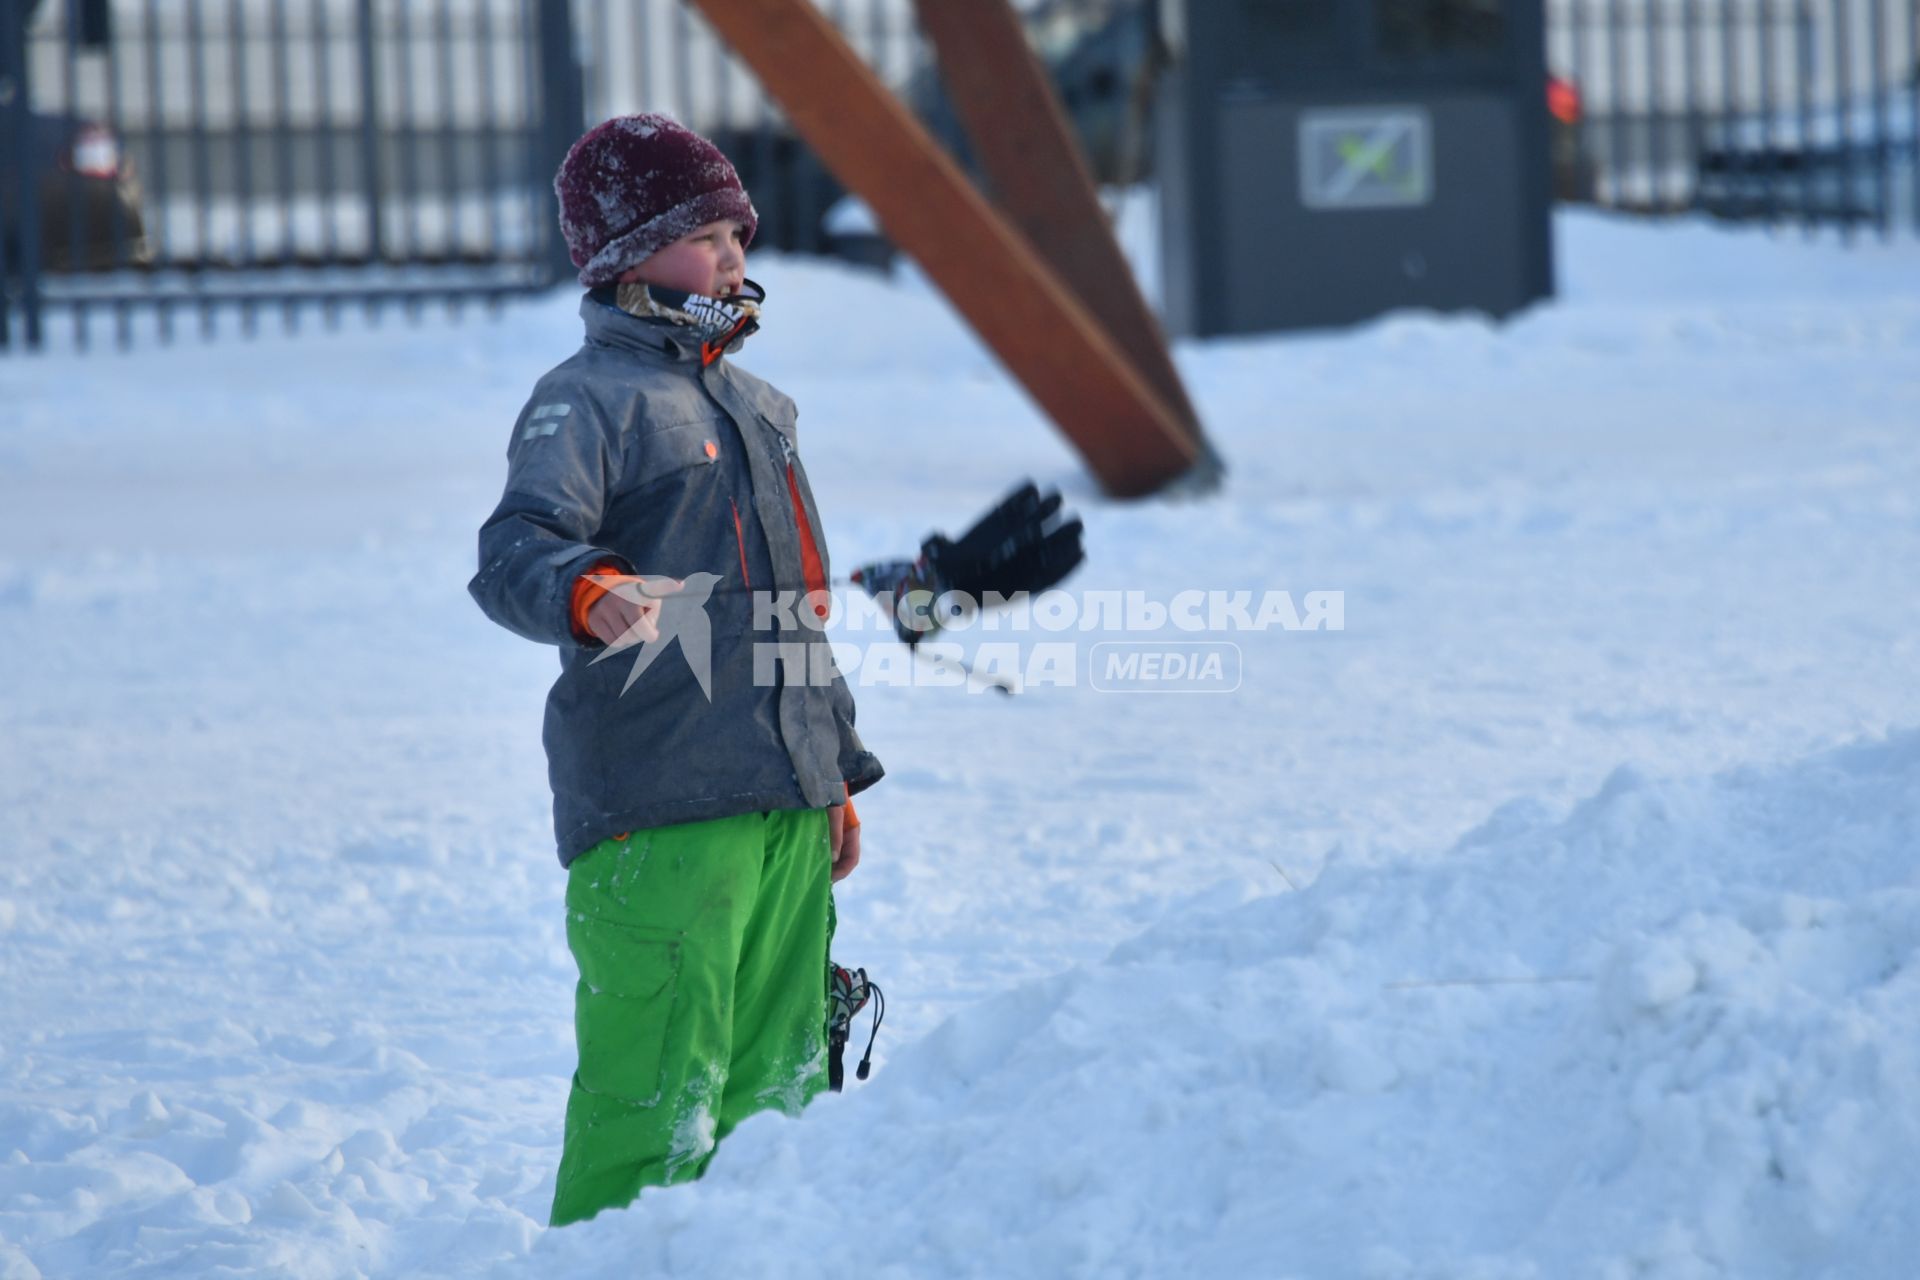
[{"label": "maroon knit hat dusted with snow on the boy's head", "polygon": [[760,225],[720,148],[670,115],[616,115],[589,129],[561,161],[553,194],[588,288],[612,284],[707,223],[745,223],[747,244]]}]

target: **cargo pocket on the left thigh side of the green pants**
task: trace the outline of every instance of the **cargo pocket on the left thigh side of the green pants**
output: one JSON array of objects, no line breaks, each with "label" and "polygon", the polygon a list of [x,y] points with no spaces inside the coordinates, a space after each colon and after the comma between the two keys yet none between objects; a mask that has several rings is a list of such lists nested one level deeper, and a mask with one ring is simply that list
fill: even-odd
[{"label": "cargo pocket on the left thigh side of the green pants", "polygon": [[634,1105],[657,1105],[674,1034],[680,942],[568,912],[566,946],[580,965],[574,990],[580,1086]]}]

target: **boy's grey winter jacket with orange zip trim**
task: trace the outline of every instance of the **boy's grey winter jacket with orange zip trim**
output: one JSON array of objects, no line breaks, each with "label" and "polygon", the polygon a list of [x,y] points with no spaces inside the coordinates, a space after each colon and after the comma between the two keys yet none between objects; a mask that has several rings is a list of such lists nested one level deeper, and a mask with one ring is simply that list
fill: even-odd
[{"label": "boy's grey winter jacket with orange zip trim", "polygon": [[[818,585],[808,530],[829,572],[793,401],[726,357],[703,367],[689,330],[632,317],[607,292],[580,315],[586,344],[515,422],[507,493],[467,587],[493,622],[561,649],[543,731],[561,865],[622,831],[824,808],[879,781],[826,641],[793,626],[797,610],[753,608],[753,593]],[[574,581],[601,560],[687,580],[666,597],[660,652],[624,691],[649,654],[595,662],[603,647],[570,626]],[[668,626],[674,610],[685,626]],[[710,700],[687,652],[708,637]]]}]

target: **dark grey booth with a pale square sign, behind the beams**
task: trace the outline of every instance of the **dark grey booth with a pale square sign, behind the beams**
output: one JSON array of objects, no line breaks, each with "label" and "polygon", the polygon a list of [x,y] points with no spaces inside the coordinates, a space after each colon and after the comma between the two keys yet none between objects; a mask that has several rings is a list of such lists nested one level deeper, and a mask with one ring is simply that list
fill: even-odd
[{"label": "dark grey booth with a pale square sign, behind the beams", "polygon": [[1553,294],[1542,0],[1160,0],[1183,336]]}]

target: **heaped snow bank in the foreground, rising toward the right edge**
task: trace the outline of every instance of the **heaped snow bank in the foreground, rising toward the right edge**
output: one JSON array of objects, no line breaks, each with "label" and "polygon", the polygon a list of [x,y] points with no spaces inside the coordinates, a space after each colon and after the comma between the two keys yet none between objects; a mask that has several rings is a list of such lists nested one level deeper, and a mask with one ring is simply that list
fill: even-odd
[{"label": "heaped snow bank in the foreground, rising toward the right edge", "polygon": [[[555,1274],[1891,1276],[1920,1251],[1920,733],[1619,770],[1016,988]],[[741,1232],[741,1222],[755,1222]],[[616,1261],[611,1261],[616,1259]]]}]

